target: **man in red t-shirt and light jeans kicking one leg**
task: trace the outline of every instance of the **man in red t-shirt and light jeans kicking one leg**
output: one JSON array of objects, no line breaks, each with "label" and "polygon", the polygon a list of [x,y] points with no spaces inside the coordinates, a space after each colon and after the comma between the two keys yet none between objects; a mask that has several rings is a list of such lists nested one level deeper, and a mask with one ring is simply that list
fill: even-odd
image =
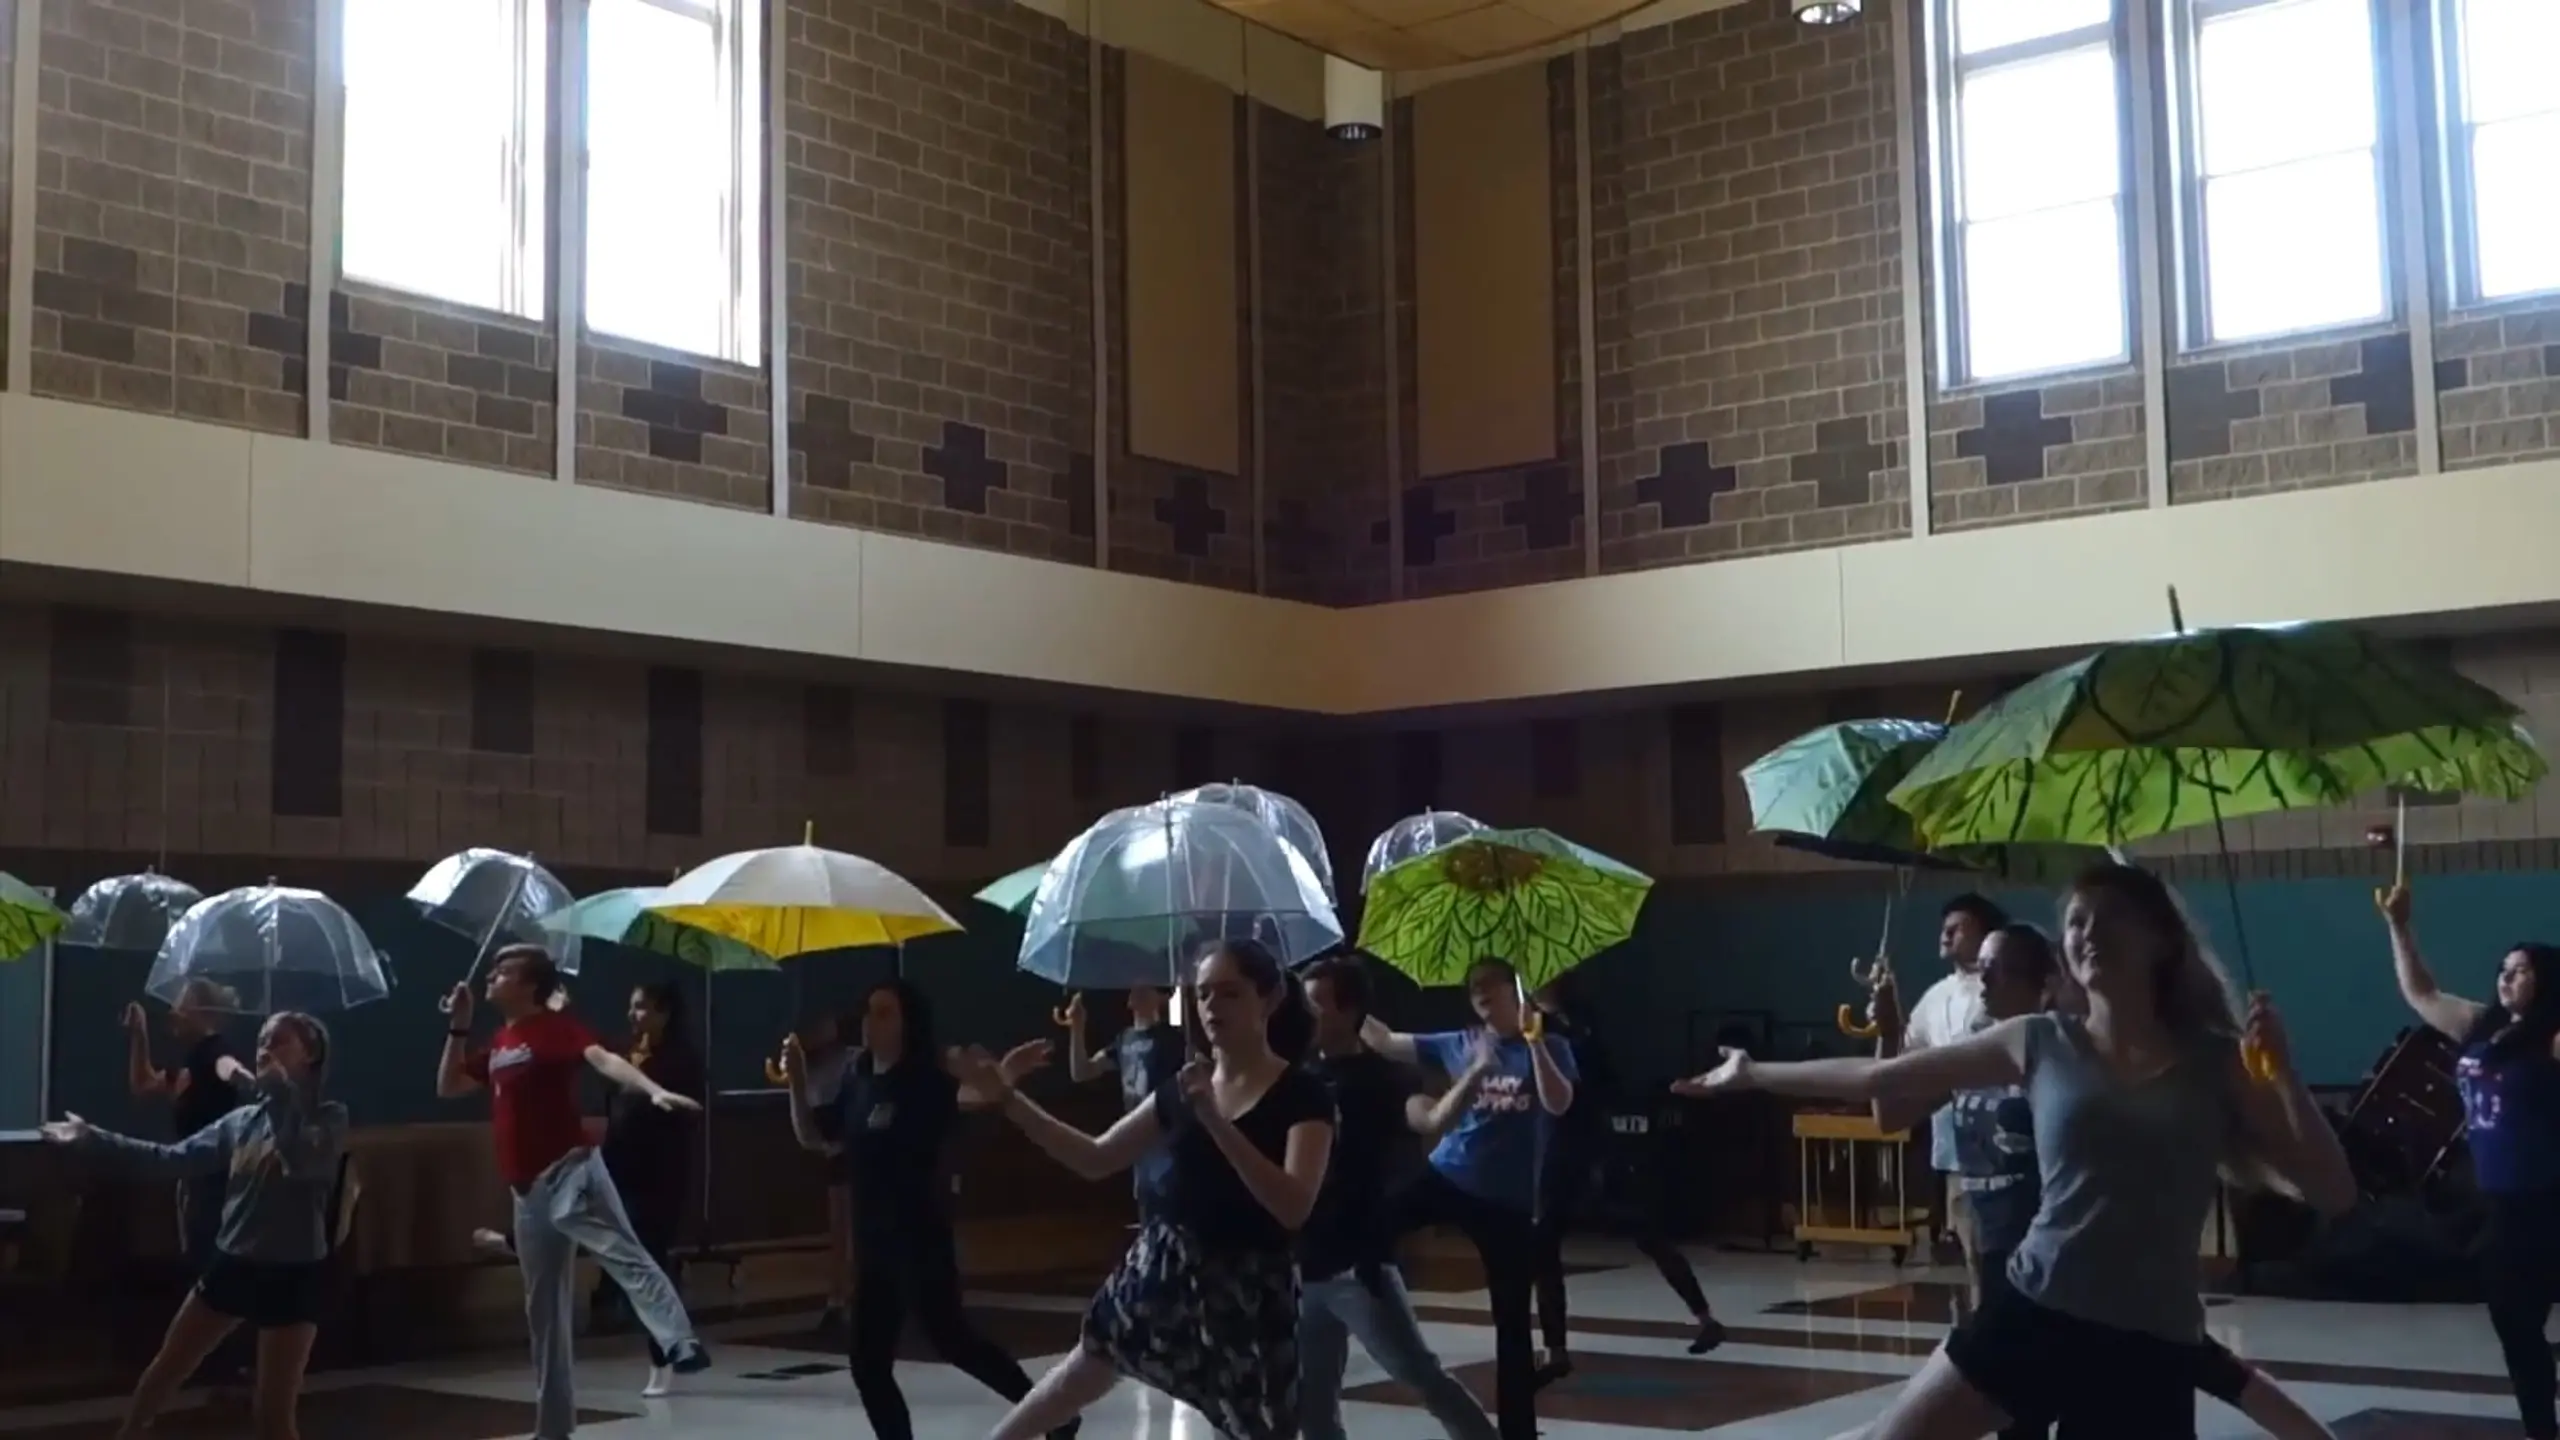
[{"label": "man in red t-shirt and light jeans kicking one leg", "polygon": [[[497,1171],[515,1191],[515,1256],[525,1271],[525,1325],[532,1330],[535,1440],[568,1440],[579,1425],[568,1291],[581,1248],[630,1297],[668,1368],[694,1373],[712,1363],[676,1286],[632,1238],[622,1197],[586,1140],[579,1081],[596,1071],[660,1109],[699,1104],[599,1045],[576,1015],[553,1010],[558,989],[561,971],[548,951],[507,945],[489,966],[489,1004],[504,1025],[486,1051],[474,1051],[471,986],[453,986],[445,1053],[435,1068],[440,1097],[489,1089]],[[663,1391],[666,1376],[653,1373],[650,1384]]]}]

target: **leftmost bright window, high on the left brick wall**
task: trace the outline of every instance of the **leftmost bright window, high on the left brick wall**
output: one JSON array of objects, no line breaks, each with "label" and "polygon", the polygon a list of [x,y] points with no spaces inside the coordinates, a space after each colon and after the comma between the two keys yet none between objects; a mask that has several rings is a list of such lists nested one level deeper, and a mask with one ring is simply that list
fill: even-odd
[{"label": "leftmost bright window, high on the left brick wall", "polygon": [[540,318],[543,0],[346,0],[351,279]]}]

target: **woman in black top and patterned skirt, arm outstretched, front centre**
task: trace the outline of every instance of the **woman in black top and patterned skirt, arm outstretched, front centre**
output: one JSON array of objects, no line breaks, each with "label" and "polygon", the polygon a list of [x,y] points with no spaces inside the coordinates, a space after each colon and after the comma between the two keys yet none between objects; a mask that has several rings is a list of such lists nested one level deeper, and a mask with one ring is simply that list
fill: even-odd
[{"label": "woman in black top and patterned skirt, arm outstretched, front centre", "polygon": [[1142,1225],[1085,1309],[1083,1343],[988,1440],[1032,1440],[1098,1402],[1119,1376],[1160,1389],[1208,1417],[1226,1440],[1298,1435],[1295,1230],[1324,1189],[1334,1099],[1290,1056],[1308,1017],[1280,961],[1252,940],[1226,940],[1198,966],[1196,999],[1208,1056],[1183,1066],[1155,1102],[1103,1135],[1039,1109],[1011,1076],[1047,1056],[1034,1040],[998,1066],[986,1051],[963,1074],[1034,1145],[1085,1179],[1160,1150],[1139,1189]]}]

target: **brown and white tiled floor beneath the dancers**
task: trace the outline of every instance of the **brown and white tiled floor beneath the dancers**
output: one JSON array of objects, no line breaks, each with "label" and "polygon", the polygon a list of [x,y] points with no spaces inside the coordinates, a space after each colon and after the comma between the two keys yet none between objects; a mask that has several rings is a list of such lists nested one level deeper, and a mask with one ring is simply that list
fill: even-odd
[{"label": "brown and white tiled floor beneath the dancers", "polygon": [[[1700,1253],[1731,1340],[1687,1355],[1679,1304],[1631,1253],[1577,1250],[1572,1279],[1577,1373],[1549,1389],[1546,1440],[1644,1440],[1687,1432],[1715,1440],[1828,1440],[1874,1417],[1935,1345],[1953,1312],[1948,1276],[1882,1263],[1812,1263],[1792,1256]],[[1418,1268],[1423,1320],[1457,1373],[1490,1396],[1492,1330],[1464,1266]],[[973,1297],[988,1335],[1039,1371],[1075,1340],[1091,1276],[1021,1273]],[[2232,1299],[2214,1332],[2276,1373],[2342,1440],[2514,1440],[2488,1320],[2465,1307],[2350,1307]],[[806,1325],[737,1322],[714,1330],[717,1368],[668,1402],[643,1402],[643,1358],[630,1340],[584,1348],[579,1399],[589,1440],[842,1440],[868,1435],[845,1368]],[[996,1396],[934,1363],[909,1338],[899,1379],[924,1440],[978,1440],[1001,1414]],[[1354,1353],[1347,1422],[1362,1440],[1423,1440],[1428,1417]],[[530,1425],[520,1361],[402,1366],[325,1376],[305,1399],[312,1440],[502,1440]],[[0,1412],[5,1440],[105,1440],[115,1404]],[[2253,1435],[2237,1414],[2202,1402],[2209,1440]],[[246,1422],[177,1414],[169,1435],[246,1435]],[[1114,1391],[1088,1420],[1088,1440],[1211,1440],[1196,1414],[1137,1386]]]}]

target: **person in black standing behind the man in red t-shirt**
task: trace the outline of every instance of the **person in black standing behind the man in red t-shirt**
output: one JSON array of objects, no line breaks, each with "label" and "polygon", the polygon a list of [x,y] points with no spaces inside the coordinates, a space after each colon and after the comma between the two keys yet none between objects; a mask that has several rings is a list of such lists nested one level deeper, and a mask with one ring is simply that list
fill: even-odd
[{"label": "person in black standing behind the man in red t-shirt", "polygon": [[[673,984],[643,984],[630,999],[632,1038],[625,1056],[648,1079],[694,1104],[709,1104],[701,1051],[684,1020],[684,992]],[[701,1117],[691,1109],[660,1109],[648,1092],[614,1089],[604,1120],[604,1171],[622,1191],[622,1215],[632,1238],[658,1261],[668,1284],[684,1291],[684,1266],[676,1261],[676,1232],[694,1194],[694,1156],[701,1143]],[[596,1276],[596,1304],[622,1297],[609,1273]],[[648,1384],[643,1396],[663,1396],[673,1371],[658,1340],[648,1343]]]}]

